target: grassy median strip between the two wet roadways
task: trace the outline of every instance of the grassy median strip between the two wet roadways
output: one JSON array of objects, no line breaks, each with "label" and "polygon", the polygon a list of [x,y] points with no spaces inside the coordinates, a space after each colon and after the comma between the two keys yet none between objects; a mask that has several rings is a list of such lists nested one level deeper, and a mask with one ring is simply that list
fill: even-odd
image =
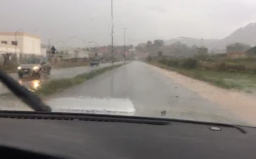
[{"label": "grassy median strip between the two wet roadways", "polygon": [[98,69],[98,70],[92,70],[89,73],[80,74],[80,75],[77,75],[73,78],[50,80],[49,82],[40,86],[38,89],[33,89],[33,88],[29,88],[29,89],[31,91],[35,92],[39,96],[46,96],[46,95],[54,94],[58,90],[66,89],[66,88],[69,88],[71,86],[81,84],[81,83],[85,82],[88,79],[92,79],[96,76],[99,76],[99,75],[101,75],[101,74],[103,74],[107,71],[116,69],[120,66],[122,66],[122,64],[115,65],[115,66],[110,66],[110,67],[105,67],[105,68],[101,68],[101,69]]}]

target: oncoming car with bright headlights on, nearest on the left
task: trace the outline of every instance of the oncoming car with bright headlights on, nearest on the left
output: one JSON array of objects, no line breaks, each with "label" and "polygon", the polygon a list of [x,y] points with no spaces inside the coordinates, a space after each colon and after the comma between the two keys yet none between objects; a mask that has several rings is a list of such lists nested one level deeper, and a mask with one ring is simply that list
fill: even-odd
[{"label": "oncoming car with bright headlights on, nearest on the left", "polygon": [[51,66],[44,57],[29,58],[22,61],[22,64],[17,68],[19,78],[23,75],[37,75],[40,76],[41,72],[47,72],[50,75]]}]

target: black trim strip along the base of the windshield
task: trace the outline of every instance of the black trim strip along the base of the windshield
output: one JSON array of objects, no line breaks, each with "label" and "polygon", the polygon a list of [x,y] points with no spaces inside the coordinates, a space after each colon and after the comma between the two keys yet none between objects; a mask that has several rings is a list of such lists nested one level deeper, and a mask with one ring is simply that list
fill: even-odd
[{"label": "black trim strip along the base of the windshield", "polygon": [[[201,122],[183,119],[157,118],[157,117],[141,117],[141,116],[125,116],[125,115],[109,115],[109,114],[87,114],[87,113],[66,113],[66,112],[36,112],[36,111],[0,111],[0,118],[22,118],[22,119],[52,119],[52,120],[85,120],[85,121],[101,121],[101,122],[126,122],[153,125],[168,125],[170,122],[183,122],[192,124],[202,124],[211,126],[230,127],[247,134],[239,125],[230,125],[223,123]],[[138,121],[139,120],[139,121]],[[251,127],[255,128],[255,127]]]}]

